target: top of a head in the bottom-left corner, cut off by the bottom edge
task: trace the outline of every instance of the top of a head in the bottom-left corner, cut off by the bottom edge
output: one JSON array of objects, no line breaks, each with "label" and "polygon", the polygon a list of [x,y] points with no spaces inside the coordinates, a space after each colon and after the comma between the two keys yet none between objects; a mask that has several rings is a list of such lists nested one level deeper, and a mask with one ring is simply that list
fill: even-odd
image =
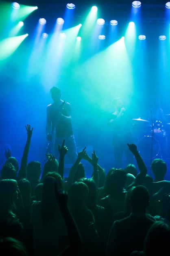
[{"label": "top of a head in the bottom-left corner, cut off by the bottom edge", "polygon": [[0,239],[0,255],[28,256],[28,252],[21,241],[11,237],[5,237]]}]

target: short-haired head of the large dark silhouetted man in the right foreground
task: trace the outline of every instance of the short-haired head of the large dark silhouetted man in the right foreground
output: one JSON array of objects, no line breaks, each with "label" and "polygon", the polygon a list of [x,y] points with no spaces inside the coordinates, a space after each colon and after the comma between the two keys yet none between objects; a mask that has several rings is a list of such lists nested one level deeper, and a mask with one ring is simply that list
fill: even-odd
[{"label": "short-haired head of the large dark silhouetted man in the right foreground", "polygon": [[139,185],[136,186],[132,192],[130,197],[130,203],[133,212],[137,213],[145,213],[146,208],[149,206],[149,198],[150,194],[148,189],[143,186]]}]

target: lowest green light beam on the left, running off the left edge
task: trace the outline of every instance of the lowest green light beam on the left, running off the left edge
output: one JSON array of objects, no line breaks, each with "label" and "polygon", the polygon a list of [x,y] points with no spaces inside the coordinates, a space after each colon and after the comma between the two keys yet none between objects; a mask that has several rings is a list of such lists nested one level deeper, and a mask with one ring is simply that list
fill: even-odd
[{"label": "lowest green light beam on the left, running off the left edge", "polygon": [[6,38],[0,42],[0,61],[8,58],[20,46],[28,34]]}]

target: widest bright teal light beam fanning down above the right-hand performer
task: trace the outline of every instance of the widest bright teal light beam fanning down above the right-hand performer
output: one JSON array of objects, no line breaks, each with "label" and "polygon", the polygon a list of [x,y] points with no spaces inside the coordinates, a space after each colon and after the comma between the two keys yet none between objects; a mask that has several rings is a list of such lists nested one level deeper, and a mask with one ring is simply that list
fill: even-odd
[{"label": "widest bright teal light beam fanning down above the right-hand performer", "polygon": [[132,65],[123,38],[88,59],[80,70],[88,103],[95,102],[100,110],[108,111],[106,102],[111,102],[113,95],[129,98],[133,94]]}]

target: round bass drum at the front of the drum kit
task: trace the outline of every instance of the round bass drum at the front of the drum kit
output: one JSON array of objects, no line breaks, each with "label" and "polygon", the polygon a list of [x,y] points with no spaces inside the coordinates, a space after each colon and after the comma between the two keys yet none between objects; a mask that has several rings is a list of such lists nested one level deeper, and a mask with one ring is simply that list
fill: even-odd
[{"label": "round bass drum at the front of the drum kit", "polygon": [[[152,146],[153,140],[153,146]],[[143,159],[151,158],[151,148],[152,148],[152,158],[156,158],[160,151],[159,141],[152,136],[144,136],[139,140],[137,144],[137,150],[139,151]]]}]

